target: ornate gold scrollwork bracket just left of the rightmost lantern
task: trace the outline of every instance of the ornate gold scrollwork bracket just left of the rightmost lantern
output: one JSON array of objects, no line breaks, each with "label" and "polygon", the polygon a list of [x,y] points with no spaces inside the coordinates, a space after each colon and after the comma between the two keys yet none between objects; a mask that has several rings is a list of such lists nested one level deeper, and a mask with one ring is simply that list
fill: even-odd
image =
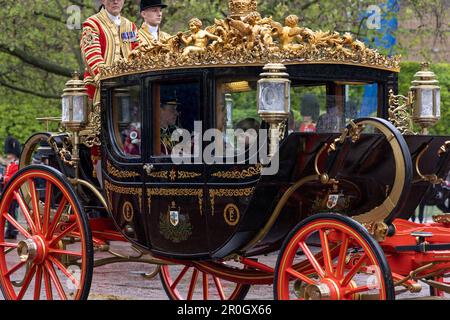
[{"label": "ornate gold scrollwork bracket just left of the rightmost lantern", "polygon": [[394,91],[389,90],[389,121],[402,134],[415,134],[413,131],[413,121],[411,115],[410,98],[402,95],[394,95]]}]

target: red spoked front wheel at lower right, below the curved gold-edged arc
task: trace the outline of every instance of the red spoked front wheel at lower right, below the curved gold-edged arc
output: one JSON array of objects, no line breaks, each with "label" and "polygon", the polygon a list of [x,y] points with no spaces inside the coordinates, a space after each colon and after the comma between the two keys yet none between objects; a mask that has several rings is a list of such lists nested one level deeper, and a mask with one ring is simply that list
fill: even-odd
[{"label": "red spoked front wheel at lower right, below the curved gold-edged arc", "polygon": [[275,269],[274,295],[281,300],[395,298],[379,244],[358,222],[329,213],[305,219],[286,238]]}]

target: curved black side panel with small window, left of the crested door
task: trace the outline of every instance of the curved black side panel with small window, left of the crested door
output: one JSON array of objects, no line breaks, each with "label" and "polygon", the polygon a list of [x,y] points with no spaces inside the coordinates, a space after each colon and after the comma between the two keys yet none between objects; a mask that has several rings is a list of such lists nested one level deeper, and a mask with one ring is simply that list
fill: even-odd
[{"label": "curved black side panel with small window, left of the crested door", "polygon": [[144,210],[141,83],[127,77],[105,83],[104,87],[103,103],[108,107],[106,117],[102,115],[102,182],[106,200],[122,233],[132,242],[146,245],[141,214]]}]

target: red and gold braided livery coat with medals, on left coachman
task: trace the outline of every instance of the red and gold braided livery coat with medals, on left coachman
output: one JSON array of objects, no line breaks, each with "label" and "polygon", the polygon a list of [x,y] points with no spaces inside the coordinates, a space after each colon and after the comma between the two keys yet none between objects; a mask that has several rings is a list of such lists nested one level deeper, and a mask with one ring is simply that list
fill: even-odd
[{"label": "red and gold braided livery coat with medals, on left coachman", "polygon": [[83,23],[81,52],[86,64],[84,82],[89,97],[94,101],[98,99],[95,97],[95,83],[101,67],[127,58],[139,44],[136,25],[122,16],[115,17],[119,19],[116,24],[112,21],[113,18],[102,9]]}]

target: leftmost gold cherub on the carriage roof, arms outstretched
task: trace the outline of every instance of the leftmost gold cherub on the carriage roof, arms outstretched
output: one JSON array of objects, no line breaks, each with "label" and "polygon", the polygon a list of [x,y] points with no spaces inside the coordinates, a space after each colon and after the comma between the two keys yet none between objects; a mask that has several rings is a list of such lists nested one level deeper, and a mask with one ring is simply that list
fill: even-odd
[{"label": "leftmost gold cherub on the carriage roof, arms outstretched", "polygon": [[[191,31],[190,36],[184,36],[183,33],[177,34],[178,38],[186,46],[183,50],[183,56],[188,56],[190,53],[205,52],[210,40],[214,40],[212,46],[216,43],[222,43],[222,38],[206,31],[202,30],[203,23],[198,18],[193,18],[189,21],[189,29]],[[193,45],[190,45],[194,42]]]}]

